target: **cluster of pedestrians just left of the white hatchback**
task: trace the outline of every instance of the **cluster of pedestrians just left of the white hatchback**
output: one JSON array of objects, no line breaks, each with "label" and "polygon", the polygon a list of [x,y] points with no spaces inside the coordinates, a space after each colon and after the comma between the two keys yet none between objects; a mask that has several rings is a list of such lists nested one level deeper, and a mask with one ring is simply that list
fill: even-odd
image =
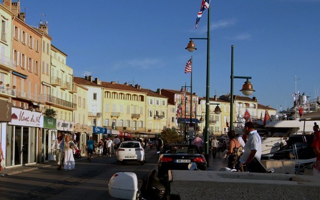
[{"label": "cluster of pedestrians just left of the white hatchback", "polygon": [[[124,139],[122,138],[122,141]],[[114,150],[115,150],[115,156],[117,157],[118,148],[120,146],[120,139],[118,136],[115,136],[115,138],[112,140],[111,137],[101,139],[98,148],[99,148],[99,156],[103,157],[111,157],[112,154],[112,145],[114,144]]]}]

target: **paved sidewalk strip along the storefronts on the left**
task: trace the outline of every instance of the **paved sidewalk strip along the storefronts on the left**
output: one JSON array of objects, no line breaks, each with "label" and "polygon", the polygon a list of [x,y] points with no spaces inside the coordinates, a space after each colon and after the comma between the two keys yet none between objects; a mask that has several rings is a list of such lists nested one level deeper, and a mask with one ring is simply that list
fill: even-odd
[{"label": "paved sidewalk strip along the storefronts on the left", "polygon": [[[75,159],[75,161],[85,160],[85,159],[87,159],[87,157]],[[2,171],[0,171],[0,176],[9,176],[9,175],[13,175],[16,173],[22,173],[22,172],[26,172],[26,171],[36,170],[39,168],[46,168],[46,167],[50,167],[53,165],[57,165],[57,162],[56,161],[48,161],[45,163],[36,163],[36,164],[20,166],[20,167],[5,168]]]}]

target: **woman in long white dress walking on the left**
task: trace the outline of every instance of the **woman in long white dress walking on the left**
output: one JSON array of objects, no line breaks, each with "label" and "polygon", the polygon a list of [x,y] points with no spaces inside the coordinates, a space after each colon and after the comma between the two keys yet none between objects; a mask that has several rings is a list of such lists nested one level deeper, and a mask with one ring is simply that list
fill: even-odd
[{"label": "woman in long white dress walking on the left", "polygon": [[72,148],[75,148],[75,144],[71,141],[71,136],[66,134],[64,139],[64,171],[74,169],[75,162]]}]

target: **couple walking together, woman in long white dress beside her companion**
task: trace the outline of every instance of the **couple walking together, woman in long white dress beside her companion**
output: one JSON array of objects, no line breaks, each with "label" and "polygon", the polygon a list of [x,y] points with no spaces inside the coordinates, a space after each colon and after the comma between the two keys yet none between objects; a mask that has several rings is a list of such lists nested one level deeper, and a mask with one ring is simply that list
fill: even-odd
[{"label": "couple walking together, woman in long white dress beside her companion", "polygon": [[56,149],[57,170],[62,170],[62,165],[64,165],[64,171],[75,168],[73,158],[73,149],[75,147],[76,145],[73,143],[70,134],[64,135],[61,131],[58,131],[57,138],[51,146],[51,150]]}]

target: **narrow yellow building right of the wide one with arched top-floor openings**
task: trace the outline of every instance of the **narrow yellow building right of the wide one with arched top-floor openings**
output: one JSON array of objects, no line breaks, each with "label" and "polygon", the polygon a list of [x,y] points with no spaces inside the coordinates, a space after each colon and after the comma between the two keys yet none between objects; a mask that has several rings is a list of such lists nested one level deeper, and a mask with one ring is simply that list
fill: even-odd
[{"label": "narrow yellow building right of the wide one with arched top-floor openings", "polygon": [[150,89],[141,89],[147,93],[146,101],[146,128],[149,133],[160,134],[168,124],[168,97],[161,95],[160,89],[154,92]]}]

